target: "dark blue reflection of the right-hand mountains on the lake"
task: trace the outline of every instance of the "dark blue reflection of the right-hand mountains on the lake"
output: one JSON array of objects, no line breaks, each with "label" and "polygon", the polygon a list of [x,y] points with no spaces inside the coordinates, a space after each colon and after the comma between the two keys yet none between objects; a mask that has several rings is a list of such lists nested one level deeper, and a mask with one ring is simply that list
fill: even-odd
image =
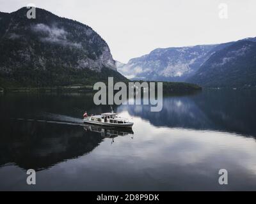
[{"label": "dark blue reflection of the right-hand mountains on the lake", "polygon": [[148,120],[158,127],[211,129],[256,136],[256,91],[204,91],[192,96],[169,96],[163,99],[161,112],[150,106],[123,105],[118,111]]}]

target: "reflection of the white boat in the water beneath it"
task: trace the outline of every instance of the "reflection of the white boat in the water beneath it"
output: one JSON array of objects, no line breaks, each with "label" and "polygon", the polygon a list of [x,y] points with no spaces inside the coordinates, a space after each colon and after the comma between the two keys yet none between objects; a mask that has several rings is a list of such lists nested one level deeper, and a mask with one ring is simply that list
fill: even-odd
[{"label": "reflection of the white boat in the water beneath it", "polygon": [[[104,138],[115,138],[117,136],[133,135],[132,128],[115,128],[106,126],[84,125],[85,131],[100,133]],[[133,136],[132,136],[133,138]]]}]

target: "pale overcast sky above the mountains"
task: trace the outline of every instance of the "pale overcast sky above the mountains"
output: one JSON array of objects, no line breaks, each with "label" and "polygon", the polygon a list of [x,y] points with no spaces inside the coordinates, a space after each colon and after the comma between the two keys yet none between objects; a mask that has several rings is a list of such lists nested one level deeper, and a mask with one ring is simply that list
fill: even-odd
[{"label": "pale overcast sky above the mountains", "polygon": [[[256,36],[255,0],[0,0],[0,11],[12,12],[28,3],[90,25],[121,62],[159,47]],[[227,18],[220,18],[220,11],[226,17],[221,3],[227,4]]]}]

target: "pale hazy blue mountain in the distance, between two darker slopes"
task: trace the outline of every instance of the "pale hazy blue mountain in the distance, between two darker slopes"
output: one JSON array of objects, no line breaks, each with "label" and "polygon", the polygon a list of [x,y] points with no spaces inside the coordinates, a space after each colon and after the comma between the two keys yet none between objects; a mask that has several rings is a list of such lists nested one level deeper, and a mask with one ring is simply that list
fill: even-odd
[{"label": "pale hazy blue mountain in the distance, between two darker slopes", "polygon": [[157,48],[150,54],[117,65],[118,71],[128,78],[182,82],[192,76],[218,45]]}]

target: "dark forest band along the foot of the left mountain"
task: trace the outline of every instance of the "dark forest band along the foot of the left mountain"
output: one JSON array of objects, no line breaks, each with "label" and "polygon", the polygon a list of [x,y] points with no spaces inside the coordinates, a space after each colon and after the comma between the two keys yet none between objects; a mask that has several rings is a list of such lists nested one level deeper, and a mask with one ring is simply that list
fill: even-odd
[{"label": "dark forest band along the foot of the left mountain", "polygon": [[[35,70],[29,68],[17,69],[10,75],[0,78],[1,87],[54,87],[65,85],[93,85],[95,82],[108,82],[108,77],[114,77],[115,80],[127,80],[117,71],[108,68],[102,68],[100,72],[90,69],[63,69],[51,68],[44,70]],[[8,78],[8,80],[6,80]]]}]

